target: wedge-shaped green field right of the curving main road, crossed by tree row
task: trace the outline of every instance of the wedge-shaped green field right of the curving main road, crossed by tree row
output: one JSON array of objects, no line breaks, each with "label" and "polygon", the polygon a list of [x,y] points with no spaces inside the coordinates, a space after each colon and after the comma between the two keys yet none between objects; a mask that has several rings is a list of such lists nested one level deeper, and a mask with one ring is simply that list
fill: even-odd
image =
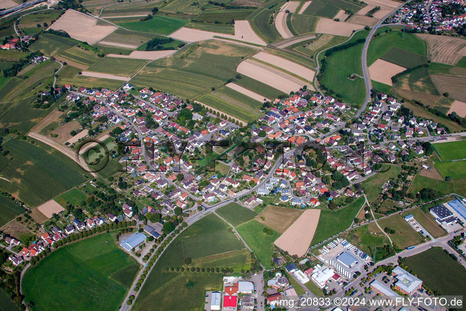
[{"label": "wedge-shaped green field right of the curving main road, crossed by tree row", "polygon": [[[157,306],[157,310],[201,310],[204,307],[205,290],[222,290],[222,275],[212,272],[166,272],[164,269],[182,267],[187,257],[192,258],[194,262],[201,262],[206,256],[232,252],[244,247],[224,221],[214,214],[206,215],[171,242],[152,268],[144,287],[139,290],[133,310],[149,311],[154,310],[154,306]],[[217,261],[218,257],[211,258],[217,264],[213,266],[212,261],[211,268],[227,268],[238,264],[236,258],[231,261],[229,256],[224,256],[223,261]],[[207,262],[203,264],[209,266]],[[181,300],[173,299],[175,296]],[[179,301],[183,301],[183,304]]]}]

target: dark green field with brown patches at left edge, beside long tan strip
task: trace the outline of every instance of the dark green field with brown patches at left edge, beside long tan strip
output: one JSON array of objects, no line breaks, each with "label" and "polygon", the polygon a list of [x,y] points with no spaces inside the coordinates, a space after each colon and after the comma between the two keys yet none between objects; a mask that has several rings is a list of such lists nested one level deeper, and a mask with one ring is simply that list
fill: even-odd
[{"label": "dark green field with brown patches at left edge, beside long tan strip", "polygon": [[[84,172],[72,159],[62,152],[36,142],[8,140],[3,149],[9,151],[7,165],[2,166],[0,188],[8,193],[17,193],[28,207],[37,206],[58,194],[82,183]],[[66,173],[65,173],[66,172]]]}]

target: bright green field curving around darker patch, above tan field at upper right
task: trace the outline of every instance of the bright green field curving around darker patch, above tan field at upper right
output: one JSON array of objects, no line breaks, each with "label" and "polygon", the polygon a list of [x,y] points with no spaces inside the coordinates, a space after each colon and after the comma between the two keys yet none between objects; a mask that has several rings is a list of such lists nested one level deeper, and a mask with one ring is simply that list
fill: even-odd
[{"label": "bright green field curving around darker patch, above tan field at upper right", "polygon": [[[397,62],[404,62],[405,64],[414,64],[421,61],[421,58],[419,56],[416,56],[415,60],[402,60],[403,55],[409,57],[413,55],[407,52],[398,51],[396,49],[391,51],[393,47],[404,49],[421,56],[425,56],[424,41],[419,39],[415,34],[405,34],[403,40],[403,33],[399,30],[392,30],[388,33],[383,33],[382,30],[380,30],[379,32],[380,35],[370,41],[369,48],[367,50],[368,66],[372,65],[373,62],[377,61],[378,58],[381,58],[386,53],[389,53],[387,57],[389,57],[390,59],[396,59]],[[397,51],[400,53],[400,55],[396,55]]]}]

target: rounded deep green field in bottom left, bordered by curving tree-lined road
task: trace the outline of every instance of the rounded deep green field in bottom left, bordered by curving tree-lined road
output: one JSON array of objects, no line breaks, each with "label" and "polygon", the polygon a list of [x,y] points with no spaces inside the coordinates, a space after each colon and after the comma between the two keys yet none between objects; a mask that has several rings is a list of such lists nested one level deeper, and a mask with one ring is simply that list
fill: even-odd
[{"label": "rounded deep green field in bottom left, bordered by curving tree-lined road", "polygon": [[117,310],[129,286],[110,276],[120,271],[132,281],[137,270],[132,275],[122,271],[136,260],[116,242],[111,234],[96,235],[57,249],[30,267],[22,280],[25,301],[34,302],[30,310]]}]

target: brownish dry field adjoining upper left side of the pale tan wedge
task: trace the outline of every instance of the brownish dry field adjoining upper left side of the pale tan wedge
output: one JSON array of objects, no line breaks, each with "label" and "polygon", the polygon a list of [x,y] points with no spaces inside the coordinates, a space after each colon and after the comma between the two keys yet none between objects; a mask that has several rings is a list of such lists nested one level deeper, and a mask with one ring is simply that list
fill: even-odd
[{"label": "brownish dry field adjoining upper left side of the pale tan wedge", "polygon": [[255,220],[277,232],[283,233],[302,214],[301,209],[269,205]]}]

